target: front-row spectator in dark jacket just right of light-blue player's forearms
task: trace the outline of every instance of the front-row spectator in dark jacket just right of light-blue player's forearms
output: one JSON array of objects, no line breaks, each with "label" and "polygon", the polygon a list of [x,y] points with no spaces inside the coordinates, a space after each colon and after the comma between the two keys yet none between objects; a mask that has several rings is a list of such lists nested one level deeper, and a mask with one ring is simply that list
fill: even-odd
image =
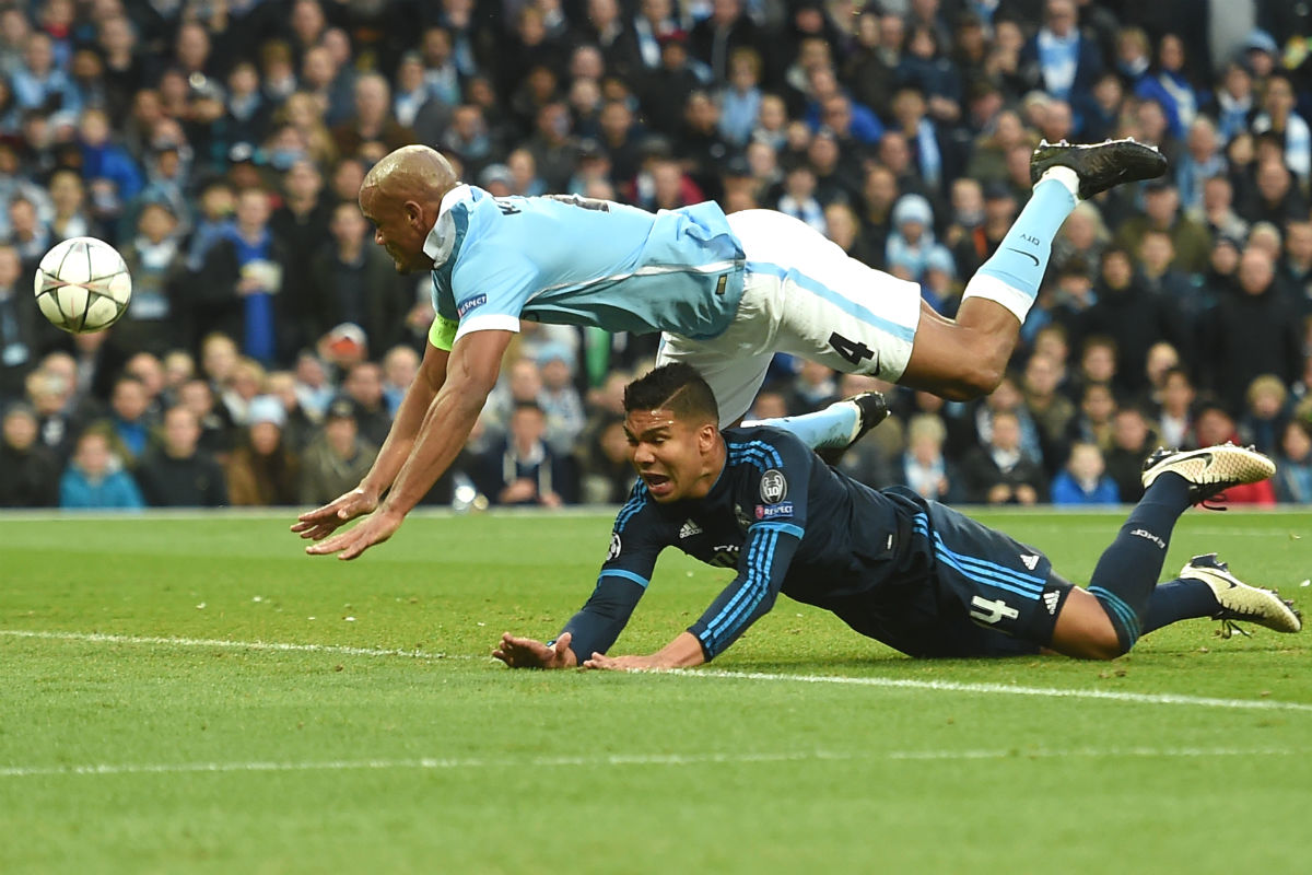
[{"label": "front-row spectator in dark jacket just right of light-blue player's forearms", "polygon": [[518,403],[502,441],[474,463],[474,483],[497,505],[558,508],[577,495],[572,459],[558,457],[543,439],[547,417],[533,401]]}]

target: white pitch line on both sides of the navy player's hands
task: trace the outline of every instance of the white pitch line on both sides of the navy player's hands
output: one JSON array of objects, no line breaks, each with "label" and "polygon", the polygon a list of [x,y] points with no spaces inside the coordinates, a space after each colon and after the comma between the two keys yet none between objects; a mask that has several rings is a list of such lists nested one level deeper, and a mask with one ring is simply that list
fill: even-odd
[{"label": "white pitch line on both sides of the navy player's hands", "polygon": [[[342,656],[390,657],[400,656],[416,660],[478,660],[483,657],[467,653],[429,653],[425,651],[388,651],[369,647],[341,647],[335,644],[286,644],[281,641],[231,641],[223,639],[197,638],[150,638],[136,635],[108,635],[102,632],[54,632],[41,630],[0,628],[0,636],[35,638],[47,640],[89,641],[105,644],[140,644],[154,647],[222,647],[227,649],[338,653]],[[488,657],[491,659],[491,657]],[[1111,702],[1134,702],[1139,704],[1185,704],[1208,708],[1241,708],[1257,711],[1304,711],[1312,712],[1312,703],[1279,702],[1273,699],[1220,699],[1202,695],[1182,695],[1177,693],[1120,693],[1115,690],[1075,690],[1043,686],[1013,686],[1009,683],[967,683],[960,681],[914,681],[887,677],[851,677],[844,674],[774,674],[768,672],[731,672],[716,669],[669,669],[646,672],[648,674],[676,674],[680,677],[701,677],[739,681],[768,681],[791,683],[842,683],[851,686],[874,686],[884,689],[934,690],[941,693],[968,693],[983,695],[1036,695],[1055,699],[1103,699]]]}]

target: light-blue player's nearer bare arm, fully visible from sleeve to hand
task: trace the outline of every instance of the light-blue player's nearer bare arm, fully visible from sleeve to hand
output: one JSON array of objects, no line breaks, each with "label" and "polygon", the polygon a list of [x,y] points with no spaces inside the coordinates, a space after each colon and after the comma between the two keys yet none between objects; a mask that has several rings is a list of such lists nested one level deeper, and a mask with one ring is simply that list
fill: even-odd
[{"label": "light-blue player's nearer bare arm, fully visible from sleeve to hand", "polygon": [[306,552],[316,556],[336,552],[338,559],[354,559],[392,537],[411,508],[459,455],[496,386],[512,333],[479,331],[457,341],[447,359],[446,380],[424,413],[419,437],[387,497],[354,529],[311,544]]}]

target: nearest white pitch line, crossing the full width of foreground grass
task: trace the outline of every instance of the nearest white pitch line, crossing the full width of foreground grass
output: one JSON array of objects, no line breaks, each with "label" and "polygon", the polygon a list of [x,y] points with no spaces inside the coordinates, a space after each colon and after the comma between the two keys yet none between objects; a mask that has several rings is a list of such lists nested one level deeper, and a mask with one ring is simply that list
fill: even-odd
[{"label": "nearest white pitch line, crossing the full width of foreground grass", "polygon": [[525,769],[525,767],[614,767],[614,766],[697,766],[741,765],[774,762],[848,762],[895,761],[933,762],[954,760],[1060,760],[1071,757],[1281,757],[1304,756],[1305,750],[1292,748],[1076,748],[1054,750],[1023,748],[997,750],[890,750],[887,753],[842,753],[830,750],[792,750],[781,753],[653,753],[653,754],[598,754],[546,756],[546,757],[422,757],[413,760],[327,760],[319,762],[122,762],[75,766],[3,766],[0,778],[55,778],[64,775],[169,775],[169,774],[230,774],[260,771],[363,771],[363,770],[468,770],[468,769]]}]

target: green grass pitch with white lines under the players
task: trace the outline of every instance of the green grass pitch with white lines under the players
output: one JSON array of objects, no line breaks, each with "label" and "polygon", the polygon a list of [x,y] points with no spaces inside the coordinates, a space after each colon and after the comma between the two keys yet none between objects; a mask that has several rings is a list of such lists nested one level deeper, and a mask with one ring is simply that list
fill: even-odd
[{"label": "green grass pitch with white lines under the players", "polygon": [[[980,513],[1085,581],[1119,514]],[[694,676],[510,672],[604,516],[0,519],[0,871],[1256,872],[1312,844],[1308,634],[1194,621],[1110,664],[912,661],[786,598]],[[1312,514],[1191,512],[1312,609]],[[615,652],[731,572],[663,558]]]}]

